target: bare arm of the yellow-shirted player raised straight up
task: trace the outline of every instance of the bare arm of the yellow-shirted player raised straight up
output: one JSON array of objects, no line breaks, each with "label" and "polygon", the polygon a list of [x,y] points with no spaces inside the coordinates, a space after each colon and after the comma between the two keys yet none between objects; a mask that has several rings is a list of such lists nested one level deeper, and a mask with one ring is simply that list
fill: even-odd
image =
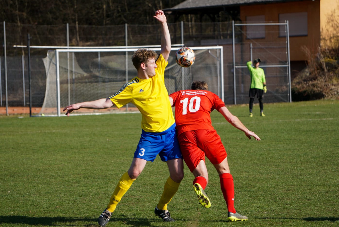
[{"label": "bare arm of the yellow-shirted player raised straight up", "polygon": [[162,10],[157,10],[155,12],[155,16],[160,23],[161,23],[161,50],[160,53],[167,61],[169,57],[169,52],[171,52],[171,36],[169,35],[169,30],[167,26],[167,19]]}]

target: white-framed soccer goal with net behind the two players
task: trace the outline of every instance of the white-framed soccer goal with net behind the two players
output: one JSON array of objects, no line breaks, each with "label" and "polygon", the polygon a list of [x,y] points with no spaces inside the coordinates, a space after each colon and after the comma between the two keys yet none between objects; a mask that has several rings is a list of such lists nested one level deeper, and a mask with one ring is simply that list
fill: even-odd
[{"label": "white-framed soccer goal with net behind the two players", "polygon": [[[206,81],[208,89],[223,100],[223,48],[190,47],[196,54],[191,67],[182,68],[175,62],[178,47],[172,47],[165,69],[168,93],[190,89],[193,81]],[[56,49],[43,59],[46,69],[46,92],[40,115],[64,116],[67,105],[107,98],[137,75],[131,57],[138,48]],[[150,48],[159,53],[160,48]],[[129,103],[92,110],[79,109],[73,115],[139,112]]]}]

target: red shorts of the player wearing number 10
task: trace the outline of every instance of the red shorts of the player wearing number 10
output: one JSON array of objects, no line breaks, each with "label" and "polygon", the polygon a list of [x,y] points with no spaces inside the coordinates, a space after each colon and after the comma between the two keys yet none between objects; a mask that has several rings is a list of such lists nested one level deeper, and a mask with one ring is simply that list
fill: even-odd
[{"label": "red shorts of the player wearing number 10", "polygon": [[212,164],[221,163],[227,153],[216,130],[198,129],[178,136],[182,157],[191,172],[205,156]]}]

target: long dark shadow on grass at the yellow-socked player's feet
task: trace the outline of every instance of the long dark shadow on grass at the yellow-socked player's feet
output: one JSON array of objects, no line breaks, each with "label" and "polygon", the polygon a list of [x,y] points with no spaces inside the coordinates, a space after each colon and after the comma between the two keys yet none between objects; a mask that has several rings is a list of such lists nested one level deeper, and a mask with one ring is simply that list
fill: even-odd
[{"label": "long dark shadow on grass at the yellow-socked player's feet", "polygon": [[[44,226],[79,226],[78,222],[86,222],[80,224],[80,226],[98,226],[98,224],[88,224],[88,222],[98,222],[97,218],[71,218],[71,217],[28,217],[28,216],[0,216],[1,224],[24,224],[24,225],[44,225]],[[110,221],[123,222],[127,225],[133,226],[150,226],[150,220],[148,219],[128,219],[128,218],[114,218]]]}]

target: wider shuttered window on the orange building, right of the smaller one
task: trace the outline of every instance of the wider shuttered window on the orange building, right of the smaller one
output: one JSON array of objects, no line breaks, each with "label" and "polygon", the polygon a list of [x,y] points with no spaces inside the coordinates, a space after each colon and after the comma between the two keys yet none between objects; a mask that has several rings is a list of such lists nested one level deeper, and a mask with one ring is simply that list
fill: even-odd
[{"label": "wider shuttered window on the orange building, right of the smaller one", "polygon": [[[307,35],[307,12],[279,14],[280,23],[285,23],[287,20],[290,36]],[[279,36],[286,36],[285,30],[285,25],[279,25]]]}]

